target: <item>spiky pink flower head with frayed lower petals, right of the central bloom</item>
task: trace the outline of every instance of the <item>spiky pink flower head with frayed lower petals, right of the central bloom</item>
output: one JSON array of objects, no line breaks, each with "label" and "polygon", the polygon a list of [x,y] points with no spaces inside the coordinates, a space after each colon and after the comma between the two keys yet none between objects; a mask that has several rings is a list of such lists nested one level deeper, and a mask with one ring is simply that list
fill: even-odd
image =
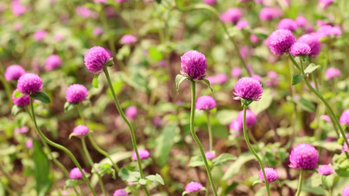
[{"label": "spiky pink flower head with frayed lower petals, right of the central bloom", "polygon": [[252,77],[240,78],[234,87],[234,99],[248,99],[258,101],[261,99],[263,88],[261,83]]}]

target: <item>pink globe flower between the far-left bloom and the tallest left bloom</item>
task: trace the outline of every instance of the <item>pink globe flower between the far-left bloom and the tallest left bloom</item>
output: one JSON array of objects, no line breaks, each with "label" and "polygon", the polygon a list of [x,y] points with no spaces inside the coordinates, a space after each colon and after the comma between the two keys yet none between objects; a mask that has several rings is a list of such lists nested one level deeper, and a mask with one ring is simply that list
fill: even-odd
[{"label": "pink globe flower between the far-left bloom and the tallest left bloom", "polygon": [[78,83],[70,85],[65,91],[65,99],[69,103],[79,103],[86,99],[88,91],[86,87]]}]

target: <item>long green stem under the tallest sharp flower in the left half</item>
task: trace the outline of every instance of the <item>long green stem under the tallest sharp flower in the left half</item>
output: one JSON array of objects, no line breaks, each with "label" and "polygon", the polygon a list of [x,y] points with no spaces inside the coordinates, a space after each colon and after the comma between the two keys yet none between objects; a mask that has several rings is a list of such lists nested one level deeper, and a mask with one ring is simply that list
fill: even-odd
[{"label": "long green stem under the tallest sharp flower in the left half", "polygon": [[[116,105],[116,109],[117,109],[118,113],[120,114],[121,118],[123,119],[123,121],[127,124],[127,126],[130,129],[132,145],[133,145],[136,157],[137,157],[137,163],[138,163],[138,169],[139,169],[140,177],[143,179],[144,178],[144,173],[143,173],[143,169],[142,169],[142,162],[141,162],[141,159],[140,159],[139,153],[138,153],[135,130],[133,129],[129,119],[127,119],[127,117],[125,116],[125,114],[122,111],[121,105],[120,105],[120,103],[119,103],[119,101],[118,101],[118,99],[116,97],[115,91],[113,89],[113,85],[111,83],[107,67],[104,67],[103,71],[104,71],[104,73],[105,73],[105,75],[107,77],[108,85],[109,85],[110,91],[111,91],[111,93],[113,95],[114,102],[115,102],[115,105]],[[143,185],[143,190],[146,193],[146,195],[150,196],[148,189],[144,185]]]}]

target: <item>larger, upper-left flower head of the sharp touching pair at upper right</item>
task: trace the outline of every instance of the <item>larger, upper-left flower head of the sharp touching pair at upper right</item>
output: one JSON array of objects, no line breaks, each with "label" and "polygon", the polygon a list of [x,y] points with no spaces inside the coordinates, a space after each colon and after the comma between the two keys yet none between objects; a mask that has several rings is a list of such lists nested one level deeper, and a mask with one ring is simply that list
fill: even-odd
[{"label": "larger, upper-left flower head of the sharp touching pair at upper right", "polygon": [[282,55],[290,49],[295,42],[295,37],[290,30],[276,30],[268,40],[270,51],[273,54]]}]

